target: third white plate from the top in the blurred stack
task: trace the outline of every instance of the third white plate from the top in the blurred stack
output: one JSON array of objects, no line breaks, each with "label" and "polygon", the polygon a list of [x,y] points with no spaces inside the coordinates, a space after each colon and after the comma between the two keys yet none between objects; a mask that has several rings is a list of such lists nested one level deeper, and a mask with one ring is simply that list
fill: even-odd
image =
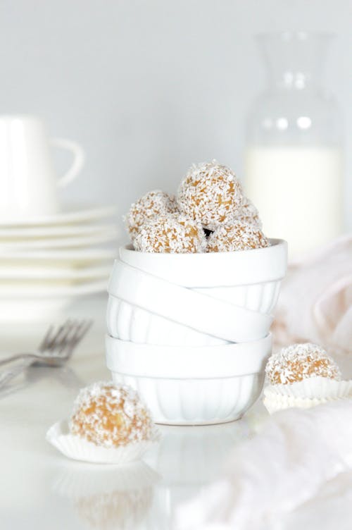
[{"label": "third white plate from the top in the blurred stack", "polygon": [[113,241],[118,236],[118,230],[111,229],[106,232],[101,232],[92,235],[82,235],[73,238],[54,238],[42,240],[17,240],[0,242],[0,257],[3,252],[16,251],[24,249],[51,249],[51,248],[70,248],[70,247],[86,247],[87,245],[98,245]]}]

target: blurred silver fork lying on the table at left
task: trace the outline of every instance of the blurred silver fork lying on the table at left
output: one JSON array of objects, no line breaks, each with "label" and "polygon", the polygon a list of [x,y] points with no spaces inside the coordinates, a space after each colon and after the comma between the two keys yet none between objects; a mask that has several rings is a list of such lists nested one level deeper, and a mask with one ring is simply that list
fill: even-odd
[{"label": "blurred silver fork lying on the table at left", "polygon": [[13,369],[0,374],[0,388],[5,386],[15,376],[18,376],[31,364],[44,366],[62,366],[70,359],[73,350],[92,326],[92,320],[67,320],[61,326],[50,326],[37,351],[32,353],[18,353],[0,360],[0,366],[22,359]]}]

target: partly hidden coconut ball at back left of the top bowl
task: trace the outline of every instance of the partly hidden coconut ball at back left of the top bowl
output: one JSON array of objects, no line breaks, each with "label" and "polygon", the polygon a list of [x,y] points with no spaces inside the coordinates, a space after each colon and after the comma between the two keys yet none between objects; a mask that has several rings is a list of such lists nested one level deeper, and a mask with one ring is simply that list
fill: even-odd
[{"label": "partly hidden coconut ball at back left of the top bowl", "polygon": [[175,214],[176,212],[177,203],[175,197],[171,197],[161,190],[153,190],[131,205],[125,218],[127,231],[133,240],[146,219],[161,214]]}]

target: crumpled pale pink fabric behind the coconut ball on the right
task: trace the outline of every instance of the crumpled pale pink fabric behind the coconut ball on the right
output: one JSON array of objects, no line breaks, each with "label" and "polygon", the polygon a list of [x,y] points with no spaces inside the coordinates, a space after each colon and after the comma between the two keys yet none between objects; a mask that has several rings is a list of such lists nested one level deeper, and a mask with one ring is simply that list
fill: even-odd
[{"label": "crumpled pale pink fabric behind the coconut ball on the right", "polygon": [[310,341],[352,353],[352,235],[289,266],[273,324],[277,346]]}]

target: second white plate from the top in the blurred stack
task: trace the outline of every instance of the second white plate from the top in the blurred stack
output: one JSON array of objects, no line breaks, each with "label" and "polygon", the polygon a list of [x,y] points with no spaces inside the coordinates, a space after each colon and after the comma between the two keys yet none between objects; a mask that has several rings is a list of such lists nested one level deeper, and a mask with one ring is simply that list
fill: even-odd
[{"label": "second white plate from the top in the blurred stack", "polygon": [[[8,240],[25,239],[25,238],[62,238],[65,236],[74,237],[77,235],[91,235],[101,232],[115,230],[113,224],[84,224],[74,226],[22,226],[15,228],[2,228],[0,226],[0,239],[4,243]],[[5,241],[6,240],[6,241]],[[12,242],[12,241],[11,241]]]}]

